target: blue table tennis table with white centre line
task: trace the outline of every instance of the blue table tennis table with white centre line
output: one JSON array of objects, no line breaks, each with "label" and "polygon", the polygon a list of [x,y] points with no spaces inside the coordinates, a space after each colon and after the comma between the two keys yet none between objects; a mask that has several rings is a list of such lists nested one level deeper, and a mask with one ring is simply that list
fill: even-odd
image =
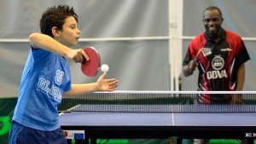
[{"label": "blue table tennis table with white centre line", "polygon": [[[97,106],[96,106],[97,107]],[[132,106],[131,106],[132,107]],[[172,106],[171,106],[172,107]],[[198,107],[198,106],[195,106]],[[246,107],[246,106],[241,106]],[[240,108],[241,108],[240,107]],[[201,107],[200,107],[201,108]],[[211,107],[214,108],[214,107]],[[225,106],[218,106],[223,109]],[[96,139],[247,139],[256,137],[255,112],[64,112],[61,129],[79,130],[81,143]],[[80,133],[82,132],[82,133]]]}]

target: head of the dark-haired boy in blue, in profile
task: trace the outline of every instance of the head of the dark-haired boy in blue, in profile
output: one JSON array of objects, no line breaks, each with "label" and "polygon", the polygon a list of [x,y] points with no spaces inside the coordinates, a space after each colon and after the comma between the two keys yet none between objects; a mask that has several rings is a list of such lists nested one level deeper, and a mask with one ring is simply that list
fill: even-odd
[{"label": "head of the dark-haired boy in blue, in profile", "polygon": [[43,34],[72,47],[79,40],[78,18],[73,8],[67,5],[50,7],[42,15],[40,29]]}]

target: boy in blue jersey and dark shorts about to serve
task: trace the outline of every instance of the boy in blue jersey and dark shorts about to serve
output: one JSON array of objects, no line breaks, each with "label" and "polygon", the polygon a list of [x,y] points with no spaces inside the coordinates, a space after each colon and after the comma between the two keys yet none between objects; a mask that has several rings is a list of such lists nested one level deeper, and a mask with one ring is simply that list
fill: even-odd
[{"label": "boy in blue jersey and dark shorts about to serve", "polygon": [[62,96],[95,91],[113,91],[118,81],[104,79],[96,83],[71,84],[67,59],[77,63],[89,60],[83,49],[70,49],[79,40],[78,15],[67,5],[47,9],[40,20],[42,33],[29,37],[30,53],[26,61],[18,102],[15,107],[9,144],[65,144],[57,107]]}]

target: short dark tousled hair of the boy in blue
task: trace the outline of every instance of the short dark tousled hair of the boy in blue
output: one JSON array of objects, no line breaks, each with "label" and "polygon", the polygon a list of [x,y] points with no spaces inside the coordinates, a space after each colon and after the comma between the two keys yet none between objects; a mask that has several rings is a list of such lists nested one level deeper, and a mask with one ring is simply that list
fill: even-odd
[{"label": "short dark tousled hair of the boy in blue", "polygon": [[62,26],[68,16],[73,16],[79,22],[79,16],[74,12],[73,7],[67,5],[58,5],[50,7],[44,11],[40,20],[40,30],[43,34],[53,37],[52,27],[56,26],[62,30]]}]

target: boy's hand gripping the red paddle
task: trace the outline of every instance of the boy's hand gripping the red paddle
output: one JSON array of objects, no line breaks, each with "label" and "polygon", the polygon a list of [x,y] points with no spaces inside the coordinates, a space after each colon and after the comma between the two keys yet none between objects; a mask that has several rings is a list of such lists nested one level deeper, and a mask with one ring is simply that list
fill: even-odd
[{"label": "boy's hand gripping the red paddle", "polygon": [[82,63],[85,60],[90,60],[89,56],[84,52],[84,49],[72,49],[67,55],[67,59],[73,60],[76,63]]}]

